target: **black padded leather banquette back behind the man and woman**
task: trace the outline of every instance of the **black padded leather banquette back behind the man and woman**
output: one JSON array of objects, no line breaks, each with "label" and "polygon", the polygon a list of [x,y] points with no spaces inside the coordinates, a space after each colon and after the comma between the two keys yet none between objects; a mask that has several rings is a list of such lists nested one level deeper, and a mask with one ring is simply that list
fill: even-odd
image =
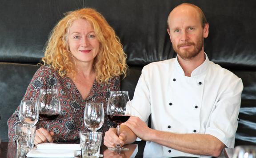
[{"label": "black padded leather banquette back behind the man and woman", "polygon": [[1,139],[7,140],[6,121],[20,103],[36,71],[34,64],[44,55],[44,43],[64,12],[96,8],[115,29],[130,69],[121,86],[132,98],[145,64],[176,56],[166,20],[172,8],[183,2],[196,4],[207,17],[210,28],[204,49],[209,59],[243,80],[236,145],[256,145],[255,0],[0,0]]}]

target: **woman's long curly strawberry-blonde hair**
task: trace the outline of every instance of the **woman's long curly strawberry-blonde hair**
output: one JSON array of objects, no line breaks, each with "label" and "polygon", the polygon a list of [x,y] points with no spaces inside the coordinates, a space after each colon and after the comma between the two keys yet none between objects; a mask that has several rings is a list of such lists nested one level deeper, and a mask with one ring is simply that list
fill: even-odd
[{"label": "woman's long curly strawberry-blonde hair", "polygon": [[105,18],[92,8],[82,8],[76,11],[67,12],[53,28],[42,61],[50,64],[62,77],[74,77],[75,62],[68,46],[68,30],[77,19],[89,21],[100,42],[100,51],[94,59],[96,81],[98,83],[108,82],[114,76],[126,76],[127,64],[126,55],[123,51],[120,39],[116,36],[113,28]]}]

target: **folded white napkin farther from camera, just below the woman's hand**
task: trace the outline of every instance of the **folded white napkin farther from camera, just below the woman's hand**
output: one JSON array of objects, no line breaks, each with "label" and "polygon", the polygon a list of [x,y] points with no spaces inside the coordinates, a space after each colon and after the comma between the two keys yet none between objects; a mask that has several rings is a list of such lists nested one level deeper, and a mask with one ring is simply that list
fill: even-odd
[{"label": "folded white napkin farther from camera, just below the woman's hand", "polygon": [[45,150],[81,150],[80,144],[55,144],[42,143],[37,145],[37,149]]}]

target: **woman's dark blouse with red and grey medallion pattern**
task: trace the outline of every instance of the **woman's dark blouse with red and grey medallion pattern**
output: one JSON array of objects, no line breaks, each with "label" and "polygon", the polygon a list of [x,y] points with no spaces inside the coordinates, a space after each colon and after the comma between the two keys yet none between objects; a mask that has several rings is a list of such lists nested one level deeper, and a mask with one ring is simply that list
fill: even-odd
[{"label": "woman's dark blouse with red and grey medallion pattern", "polygon": [[[84,100],[70,78],[62,78],[58,74],[58,71],[53,69],[52,66],[44,65],[36,71],[23,99],[37,99],[41,88],[56,88],[58,90],[61,104],[60,115],[53,121],[43,121],[39,119],[36,124],[37,129],[40,127],[47,129],[47,123],[50,122],[49,130],[55,133],[53,136],[54,142],[78,143],[79,132],[88,131],[83,121],[85,103],[104,103],[104,124],[98,131],[104,133],[110,127],[115,126],[115,124],[108,119],[106,108],[110,91],[120,90],[119,76],[109,79],[109,84],[100,84],[95,80],[88,97]],[[11,118],[8,119],[9,142],[15,141],[15,126],[20,124],[18,114],[19,107],[12,114]]]}]

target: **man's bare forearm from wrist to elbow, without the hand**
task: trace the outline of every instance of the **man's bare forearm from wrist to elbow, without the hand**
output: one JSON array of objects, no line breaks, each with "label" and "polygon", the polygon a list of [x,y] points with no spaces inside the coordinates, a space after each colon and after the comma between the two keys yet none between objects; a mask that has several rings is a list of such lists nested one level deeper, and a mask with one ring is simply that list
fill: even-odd
[{"label": "man's bare forearm from wrist to elbow, without the hand", "polygon": [[174,134],[158,130],[152,130],[148,134],[147,141],[186,153],[213,157],[219,156],[225,146],[218,138],[210,134]]}]

